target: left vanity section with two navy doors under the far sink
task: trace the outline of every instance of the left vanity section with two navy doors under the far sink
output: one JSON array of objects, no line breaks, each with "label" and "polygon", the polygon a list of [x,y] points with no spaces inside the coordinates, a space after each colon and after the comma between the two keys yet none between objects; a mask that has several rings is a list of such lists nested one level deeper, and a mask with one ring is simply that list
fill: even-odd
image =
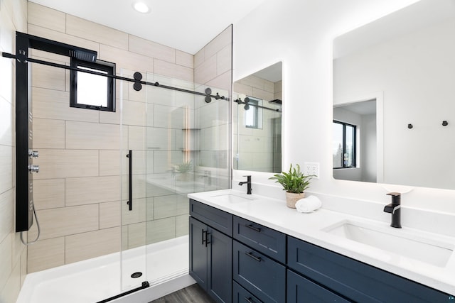
[{"label": "left vanity section with two navy doors under the far sink", "polygon": [[[216,302],[232,302],[232,238],[195,218],[223,218],[224,224],[230,221],[232,233],[232,214],[211,206],[191,202],[189,223],[190,268],[189,273]],[[192,210],[195,210],[194,212]],[[193,216],[193,214],[195,216]],[[208,219],[207,221],[212,221]],[[220,224],[214,224],[218,227]]]}]

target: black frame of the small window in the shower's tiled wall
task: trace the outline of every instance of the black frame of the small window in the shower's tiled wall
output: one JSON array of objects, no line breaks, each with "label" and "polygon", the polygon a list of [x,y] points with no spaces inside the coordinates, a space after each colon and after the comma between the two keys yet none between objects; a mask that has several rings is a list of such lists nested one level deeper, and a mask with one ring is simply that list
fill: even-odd
[{"label": "black frame of the small window in the shower's tiled wall", "polygon": [[[71,57],[71,67],[86,67],[92,70],[99,70],[106,72],[107,76],[114,75],[115,63],[103,60],[96,60],[96,62],[88,62]],[[113,77],[107,78],[107,106],[95,106],[91,104],[83,104],[77,102],[77,70],[70,70],[70,107],[80,109],[95,109],[97,111],[115,111],[115,79]],[[101,76],[102,77],[102,76]]]}]

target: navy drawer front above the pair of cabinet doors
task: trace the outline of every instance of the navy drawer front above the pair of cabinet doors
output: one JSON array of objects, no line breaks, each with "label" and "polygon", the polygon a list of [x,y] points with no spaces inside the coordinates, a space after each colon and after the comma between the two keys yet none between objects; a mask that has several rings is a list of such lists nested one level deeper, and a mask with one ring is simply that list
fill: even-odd
[{"label": "navy drawer front above the pair of cabinet doors", "polygon": [[232,237],[232,214],[190,199],[190,216]]}]

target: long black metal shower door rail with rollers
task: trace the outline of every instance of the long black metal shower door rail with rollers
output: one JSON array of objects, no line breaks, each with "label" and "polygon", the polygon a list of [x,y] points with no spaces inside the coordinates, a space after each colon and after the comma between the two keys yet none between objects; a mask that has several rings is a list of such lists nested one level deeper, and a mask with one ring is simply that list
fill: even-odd
[{"label": "long black metal shower door rail with rollers", "polygon": [[[19,60],[16,55],[13,55],[11,53],[2,52],[1,56],[2,57],[6,57],[6,58],[10,58],[10,59]],[[149,86],[152,86],[152,87],[161,87],[163,89],[171,89],[171,90],[175,90],[175,91],[178,91],[178,92],[187,92],[189,94],[197,94],[199,96],[215,98],[216,100],[223,99],[223,100],[229,101],[229,98],[224,97],[224,96],[220,96],[218,93],[216,93],[215,95],[211,94],[211,89],[205,89],[205,93],[203,93],[203,92],[195,92],[195,91],[192,91],[190,89],[182,89],[180,87],[170,87],[168,85],[159,84],[159,82],[147,82],[147,81],[142,81],[141,79],[131,79],[131,78],[128,78],[128,77],[122,77],[122,76],[117,76],[117,75],[106,75],[106,74],[103,74],[102,72],[95,72],[95,71],[92,71],[92,70],[82,70],[82,69],[79,69],[77,67],[72,67],[72,66],[68,66],[68,65],[54,63],[54,62],[48,62],[48,61],[34,59],[34,58],[30,58],[30,57],[25,57],[25,60],[23,60],[23,57],[21,57],[21,61],[20,62],[38,63],[38,64],[41,64],[41,65],[48,65],[48,66],[51,66],[51,67],[63,68],[65,70],[75,70],[77,72],[86,72],[87,74],[98,75],[98,76],[102,76],[102,77],[109,77],[109,78],[118,79],[118,80],[124,80],[124,81],[128,81],[128,82],[134,82],[135,84],[136,83],[138,83],[138,84],[146,84],[146,85],[149,85]],[[208,91],[210,91],[210,92],[208,92]],[[207,101],[207,100],[206,100],[206,102],[210,103],[210,101]]]}]

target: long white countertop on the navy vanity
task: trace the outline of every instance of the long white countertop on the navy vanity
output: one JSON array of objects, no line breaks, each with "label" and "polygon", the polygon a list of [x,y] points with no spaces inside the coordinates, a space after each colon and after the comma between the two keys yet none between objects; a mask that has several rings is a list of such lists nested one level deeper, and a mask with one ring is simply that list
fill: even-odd
[{"label": "long white countertop on the navy vanity", "polygon": [[[254,200],[232,203],[225,202],[223,199],[213,198],[223,194],[235,194],[237,197]],[[199,192],[188,194],[188,197],[217,209],[228,211],[236,216],[255,221],[258,224],[273,228],[282,233],[287,233],[289,236],[313,243],[316,246],[321,246],[363,263],[373,265],[376,268],[395,273],[396,275],[406,277],[423,285],[428,285],[442,292],[455,294],[454,252],[451,253],[451,257],[446,265],[440,267],[335,236],[322,231],[322,229],[338,224],[343,220],[351,220],[362,224],[374,224],[381,228],[391,228],[390,232],[395,234],[417,233],[426,238],[451,243],[453,246],[455,246],[455,237],[420,231],[414,228],[407,228],[406,226],[403,226],[403,228],[392,228],[389,224],[382,221],[365,219],[361,216],[351,216],[349,214],[323,209],[323,207],[312,213],[302,214],[296,211],[296,209],[288,208],[284,200],[272,199],[255,194],[247,195],[233,189]]]}]

